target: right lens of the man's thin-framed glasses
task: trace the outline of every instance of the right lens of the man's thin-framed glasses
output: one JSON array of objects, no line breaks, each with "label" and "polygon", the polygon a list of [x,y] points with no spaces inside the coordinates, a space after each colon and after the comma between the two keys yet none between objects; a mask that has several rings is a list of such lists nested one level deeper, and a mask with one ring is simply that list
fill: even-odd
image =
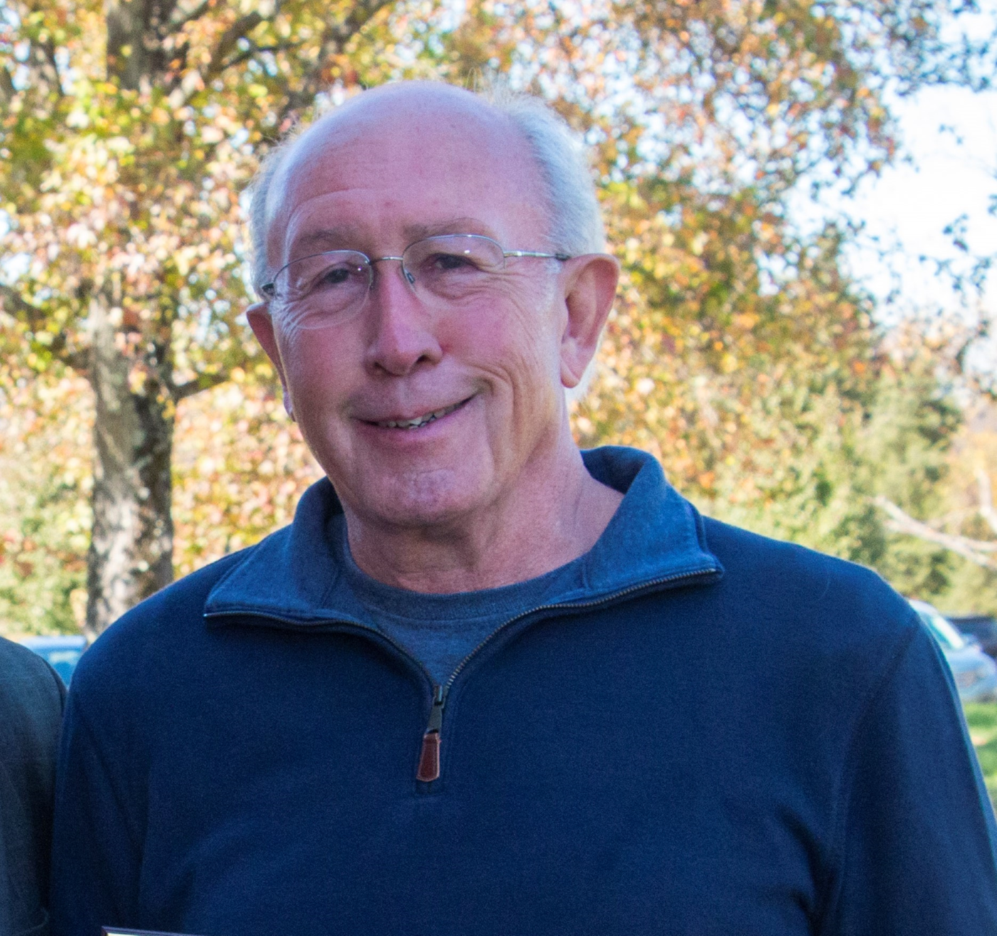
[{"label": "right lens of the man's thin-framed glasses", "polygon": [[441,299],[465,299],[494,282],[505,258],[491,237],[443,234],[411,244],[402,262],[417,290]]}]

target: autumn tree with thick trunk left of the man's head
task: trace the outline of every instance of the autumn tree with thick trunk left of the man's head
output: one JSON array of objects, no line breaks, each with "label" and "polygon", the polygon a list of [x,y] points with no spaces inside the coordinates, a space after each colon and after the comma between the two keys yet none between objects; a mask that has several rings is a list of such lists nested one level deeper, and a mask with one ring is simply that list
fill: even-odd
[{"label": "autumn tree with thick trunk left of the man's head", "polygon": [[176,406],[253,366],[238,193],[330,83],[397,65],[392,15],[387,0],[0,7],[0,302],[20,361],[67,364],[93,392],[92,636],[171,578]]}]

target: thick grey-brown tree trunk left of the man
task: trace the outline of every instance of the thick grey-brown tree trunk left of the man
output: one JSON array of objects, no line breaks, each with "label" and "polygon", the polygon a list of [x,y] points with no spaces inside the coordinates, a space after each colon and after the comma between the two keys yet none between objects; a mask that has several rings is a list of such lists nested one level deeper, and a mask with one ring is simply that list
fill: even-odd
[{"label": "thick grey-brown tree trunk left of the man", "polygon": [[141,381],[130,381],[134,359],[120,346],[125,335],[108,320],[101,301],[92,304],[91,324],[97,412],[85,632],[93,640],[172,580],[173,420],[154,368]]}]

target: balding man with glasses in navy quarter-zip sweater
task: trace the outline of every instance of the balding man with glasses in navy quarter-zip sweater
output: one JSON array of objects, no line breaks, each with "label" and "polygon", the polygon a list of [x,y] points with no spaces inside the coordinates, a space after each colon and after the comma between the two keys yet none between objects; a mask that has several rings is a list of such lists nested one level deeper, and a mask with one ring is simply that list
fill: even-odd
[{"label": "balding man with glasses in navy quarter-zip sweater", "polygon": [[617,264],[555,118],[365,93],[253,224],[249,321],[327,479],[81,663],[57,936],[997,932],[906,603],[574,445]]}]

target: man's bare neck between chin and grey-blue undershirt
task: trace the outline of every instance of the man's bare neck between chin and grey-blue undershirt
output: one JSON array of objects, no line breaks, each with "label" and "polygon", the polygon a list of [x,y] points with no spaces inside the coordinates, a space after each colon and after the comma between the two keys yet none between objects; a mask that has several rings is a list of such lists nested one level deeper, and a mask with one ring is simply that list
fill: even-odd
[{"label": "man's bare neck between chin and grey-blue undershirt", "polygon": [[544,462],[497,501],[425,526],[381,524],[344,503],[354,561],[387,585],[453,593],[525,581],[576,559],[623,495],[588,473],[569,434]]}]

